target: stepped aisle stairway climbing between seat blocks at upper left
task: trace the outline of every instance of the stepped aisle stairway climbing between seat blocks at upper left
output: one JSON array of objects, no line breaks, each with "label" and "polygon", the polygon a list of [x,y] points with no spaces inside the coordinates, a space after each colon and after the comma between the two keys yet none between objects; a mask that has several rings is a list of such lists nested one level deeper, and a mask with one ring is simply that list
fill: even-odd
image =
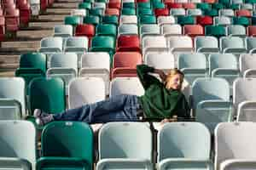
[{"label": "stepped aisle stairway climbing between seat blocks at upper left", "polygon": [[29,26],[17,31],[16,37],[1,42],[0,77],[14,77],[20,54],[37,51],[40,40],[51,36],[53,27],[63,24],[65,16],[77,8],[79,2],[81,0],[55,0],[37,19],[30,20]]}]

